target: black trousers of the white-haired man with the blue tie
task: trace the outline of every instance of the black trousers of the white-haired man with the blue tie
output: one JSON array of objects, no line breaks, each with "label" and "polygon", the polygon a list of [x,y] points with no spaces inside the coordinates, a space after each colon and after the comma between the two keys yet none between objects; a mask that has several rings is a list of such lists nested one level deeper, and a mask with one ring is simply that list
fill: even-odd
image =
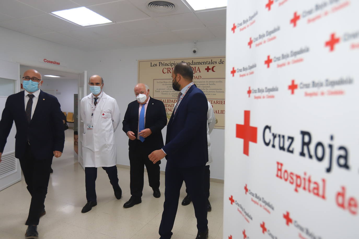
[{"label": "black trousers of the white-haired man with the blue tie", "polygon": [[140,140],[135,139],[135,149],[129,150],[130,158],[130,189],[131,195],[134,199],[141,199],[143,190],[143,174],[144,166],[146,165],[148,182],[151,188],[159,188],[159,162],[153,164],[148,155],[151,152],[145,150],[145,147]]}]

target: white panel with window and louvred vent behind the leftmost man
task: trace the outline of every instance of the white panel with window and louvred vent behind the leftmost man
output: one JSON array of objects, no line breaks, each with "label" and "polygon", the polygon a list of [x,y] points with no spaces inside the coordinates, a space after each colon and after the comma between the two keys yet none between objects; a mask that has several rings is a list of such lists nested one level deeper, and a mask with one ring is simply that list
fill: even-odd
[{"label": "white panel with window and louvred vent behind the leftmost man", "polygon": [[[8,96],[20,90],[20,65],[0,60],[0,113],[3,112]],[[0,115],[1,117],[1,115]],[[0,125],[1,127],[1,125]],[[21,180],[21,168],[15,158],[15,134],[13,124],[0,163],[0,191]]]}]

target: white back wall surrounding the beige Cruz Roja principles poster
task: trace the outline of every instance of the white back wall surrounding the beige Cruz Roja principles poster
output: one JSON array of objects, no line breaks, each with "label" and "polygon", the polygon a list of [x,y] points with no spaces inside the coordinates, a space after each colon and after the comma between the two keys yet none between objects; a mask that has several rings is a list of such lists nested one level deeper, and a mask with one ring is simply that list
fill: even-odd
[{"label": "white back wall surrounding the beige Cruz Roja principles poster", "polygon": [[[137,60],[165,59],[177,57],[224,56],[225,42],[197,43],[199,49],[192,54],[193,44],[177,44],[158,47],[119,49],[89,53],[88,76],[100,75],[104,79],[104,91],[114,97],[125,115],[129,102],[135,100],[134,86],[137,84]],[[88,91],[89,92],[89,91]],[[162,130],[165,139],[166,127]],[[210,167],[212,178],[224,178],[224,130],[214,129],[211,133],[213,163]],[[116,131],[117,163],[130,165],[128,158],[128,137],[122,131],[122,124]],[[165,169],[165,159],[161,170]]]}]

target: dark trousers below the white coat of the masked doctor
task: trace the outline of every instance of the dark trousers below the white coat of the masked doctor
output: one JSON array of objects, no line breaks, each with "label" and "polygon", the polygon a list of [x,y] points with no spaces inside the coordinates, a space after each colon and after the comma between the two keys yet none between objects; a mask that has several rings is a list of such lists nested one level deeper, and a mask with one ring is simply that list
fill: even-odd
[{"label": "dark trousers below the white coat of the masked doctor", "polygon": [[[115,190],[119,188],[118,177],[117,177],[117,167],[102,167],[110,180],[112,188]],[[85,167],[85,184],[86,184],[86,199],[87,201],[97,202],[95,181],[97,178],[97,168],[95,167]]]}]

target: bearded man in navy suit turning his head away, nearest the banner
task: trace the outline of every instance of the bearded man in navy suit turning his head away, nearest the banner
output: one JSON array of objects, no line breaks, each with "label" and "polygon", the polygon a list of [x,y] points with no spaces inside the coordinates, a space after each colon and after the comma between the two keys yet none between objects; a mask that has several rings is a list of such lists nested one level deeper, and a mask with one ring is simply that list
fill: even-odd
[{"label": "bearded man in navy suit turning his head away, nearest the banner", "polygon": [[165,201],[159,227],[160,239],[172,236],[178,199],[183,181],[191,196],[197,218],[197,237],[208,237],[207,199],[204,193],[204,170],[208,161],[207,110],[205,94],[194,83],[193,70],[185,62],[172,71],[172,87],[178,94],[177,104],[167,125],[166,144],[148,157],[156,163],[166,157]]}]

